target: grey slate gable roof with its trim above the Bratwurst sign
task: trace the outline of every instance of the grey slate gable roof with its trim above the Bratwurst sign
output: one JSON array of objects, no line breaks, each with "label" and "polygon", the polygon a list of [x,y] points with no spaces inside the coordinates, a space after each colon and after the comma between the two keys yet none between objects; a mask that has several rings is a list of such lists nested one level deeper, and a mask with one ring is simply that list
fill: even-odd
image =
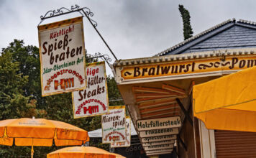
[{"label": "grey slate gable roof with its trim above the Bratwurst sign", "polygon": [[228,19],[155,56],[256,46],[256,22]]}]

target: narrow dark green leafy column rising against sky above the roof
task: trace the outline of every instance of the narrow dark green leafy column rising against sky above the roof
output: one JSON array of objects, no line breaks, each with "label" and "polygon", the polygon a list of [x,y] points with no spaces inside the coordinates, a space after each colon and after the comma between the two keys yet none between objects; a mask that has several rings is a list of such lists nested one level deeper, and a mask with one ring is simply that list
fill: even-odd
[{"label": "narrow dark green leafy column rising against sky above the roof", "polygon": [[182,20],[183,20],[183,36],[184,40],[193,36],[193,30],[191,27],[191,16],[187,9],[183,5],[178,5],[178,10],[180,11]]}]

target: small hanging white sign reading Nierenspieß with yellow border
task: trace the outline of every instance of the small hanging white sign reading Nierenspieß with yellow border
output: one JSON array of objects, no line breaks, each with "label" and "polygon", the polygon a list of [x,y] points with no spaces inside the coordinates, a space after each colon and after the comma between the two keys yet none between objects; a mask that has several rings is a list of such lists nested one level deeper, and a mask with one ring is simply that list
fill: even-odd
[{"label": "small hanging white sign reading Nierenspie\u00df with yellow border", "polygon": [[125,106],[109,106],[109,113],[101,116],[102,143],[126,141]]}]

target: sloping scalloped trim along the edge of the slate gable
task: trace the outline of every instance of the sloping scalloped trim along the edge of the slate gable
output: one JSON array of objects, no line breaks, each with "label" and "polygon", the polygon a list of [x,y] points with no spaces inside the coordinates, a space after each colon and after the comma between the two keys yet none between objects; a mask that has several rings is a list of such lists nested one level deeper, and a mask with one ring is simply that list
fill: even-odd
[{"label": "sloping scalloped trim along the edge of the slate gable", "polygon": [[[183,42],[180,42],[178,45],[174,45],[173,47],[170,47],[168,48],[167,50],[164,50],[163,52],[160,52],[160,53],[157,53],[157,55],[154,55],[154,56],[162,56],[162,55],[165,55],[167,54],[168,52],[171,52],[173,50],[176,50],[178,49],[179,47],[182,47],[183,45],[186,45],[188,44],[188,42],[191,42],[193,40],[196,40],[198,39],[199,37],[203,36],[204,34],[208,34],[209,32],[212,32],[214,31],[215,29],[219,29],[219,27],[222,27],[226,24],[229,24],[231,22],[236,22],[236,19],[228,19],[227,21],[225,22],[222,22],[221,24],[217,24],[216,26],[214,27],[211,27],[210,29],[206,29],[204,32],[201,32],[200,34],[197,34],[196,36],[193,36],[191,38],[188,38],[187,40],[183,41]],[[244,20],[244,19],[239,19],[237,21],[238,23],[243,23],[243,24],[250,24],[250,25],[255,25],[256,26],[256,22],[251,22],[251,21],[248,21],[248,20]]]}]

